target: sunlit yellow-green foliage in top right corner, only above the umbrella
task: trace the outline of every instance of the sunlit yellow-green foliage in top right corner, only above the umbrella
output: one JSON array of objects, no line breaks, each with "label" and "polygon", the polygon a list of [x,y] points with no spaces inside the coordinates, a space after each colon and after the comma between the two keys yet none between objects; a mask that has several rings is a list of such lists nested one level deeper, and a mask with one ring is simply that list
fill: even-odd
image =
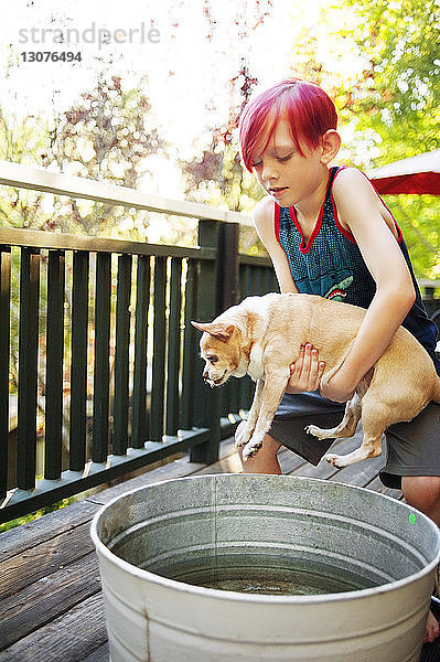
[{"label": "sunlit yellow-green foliage in top right corner, only above the umbrella", "polygon": [[437,0],[347,0],[367,64],[353,93],[359,128],[382,138],[378,164],[440,147],[440,6]]}]

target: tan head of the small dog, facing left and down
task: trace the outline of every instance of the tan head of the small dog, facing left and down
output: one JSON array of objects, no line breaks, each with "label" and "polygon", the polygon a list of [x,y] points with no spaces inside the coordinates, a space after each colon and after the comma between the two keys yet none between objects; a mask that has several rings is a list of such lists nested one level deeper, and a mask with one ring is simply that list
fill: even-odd
[{"label": "tan head of the small dog, facing left and down", "polygon": [[200,341],[201,356],[205,360],[203,378],[212,388],[224,384],[230,375],[243,377],[246,374],[242,332],[235,324],[216,321],[191,323],[203,331]]}]

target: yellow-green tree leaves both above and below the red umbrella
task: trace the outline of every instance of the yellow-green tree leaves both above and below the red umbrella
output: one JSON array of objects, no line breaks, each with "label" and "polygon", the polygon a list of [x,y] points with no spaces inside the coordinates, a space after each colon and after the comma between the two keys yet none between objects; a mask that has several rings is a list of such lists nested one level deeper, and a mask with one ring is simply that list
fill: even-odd
[{"label": "yellow-green tree leaves both above and below the red umbrella", "polygon": [[[375,166],[438,149],[440,6],[436,0],[347,0],[357,12],[348,33],[365,68],[344,107],[357,135],[374,136]],[[356,140],[356,135],[354,136]],[[418,276],[440,276],[440,212],[429,195],[387,196]]]}]

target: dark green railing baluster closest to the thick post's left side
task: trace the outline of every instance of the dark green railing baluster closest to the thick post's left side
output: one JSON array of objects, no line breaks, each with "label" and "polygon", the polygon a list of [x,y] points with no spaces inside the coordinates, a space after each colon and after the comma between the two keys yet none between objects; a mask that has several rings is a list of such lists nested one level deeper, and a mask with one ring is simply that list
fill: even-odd
[{"label": "dark green railing baluster closest to the thick post's left side", "polygon": [[[183,335],[183,374],[182,374],[182,428],[190,430],[193,427],[193,403],[194,403],[194,374],[195,356],[197,356],[197,345],[195,339],[195,329],[191,320],[195,320],[195,292],[197,289],[197,263],[193,259],[187,260],[186,284],[185,284],[185,313],[184,313],[184,335]],[[201,363],[202,364],[202,363]]]}]

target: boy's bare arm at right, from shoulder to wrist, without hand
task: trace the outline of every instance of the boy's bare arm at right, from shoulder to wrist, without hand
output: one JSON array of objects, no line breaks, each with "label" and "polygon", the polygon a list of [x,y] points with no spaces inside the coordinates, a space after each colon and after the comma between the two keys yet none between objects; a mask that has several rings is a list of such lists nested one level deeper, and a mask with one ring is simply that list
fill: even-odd
[{"label": "boy's bare arm at right, from shoulder to wrist, without hand", "polygon": [[416,293],[396,231],[384,220],[368,180],[354,169],[344,170],[334,182],[333,196],[340,222],[350,228],[376,281],[376,293],[347,357],[322,388],[325,397],[345,402],[389,345]]}]

